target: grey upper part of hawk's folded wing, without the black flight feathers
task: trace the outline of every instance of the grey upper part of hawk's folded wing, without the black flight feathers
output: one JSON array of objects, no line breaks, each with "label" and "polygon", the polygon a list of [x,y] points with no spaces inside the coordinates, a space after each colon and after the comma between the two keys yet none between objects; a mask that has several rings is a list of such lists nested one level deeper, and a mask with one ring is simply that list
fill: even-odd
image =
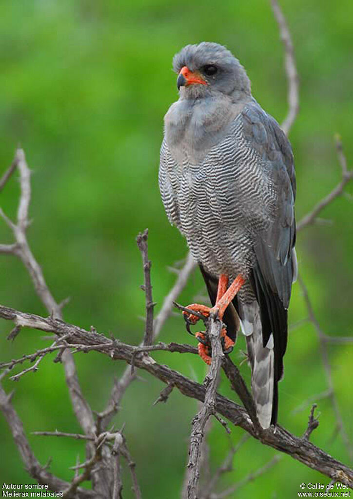
[{"label": "grey upper part of hawk's folded wing, without the black flight feathers", "polygon": [[266,232],[260,232],[255,245],[259,266],[271,289],[288,308],[296,263],[294,202],[296,179],[291,145],[277,121],[258,104],[243,112],[244,134],[249,147],[266,162],[268,175],[276,186],[275,215]]}]

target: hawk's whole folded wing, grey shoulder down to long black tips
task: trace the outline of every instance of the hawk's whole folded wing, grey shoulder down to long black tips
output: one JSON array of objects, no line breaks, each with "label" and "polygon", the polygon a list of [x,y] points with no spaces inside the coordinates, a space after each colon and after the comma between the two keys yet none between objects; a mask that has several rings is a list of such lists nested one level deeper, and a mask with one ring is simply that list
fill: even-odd
[{"label": "hawk's whole folded wing, grey shoulder down to long black tips", "polygon": [[277,196],[274,216],[266,231],[255,237],[255,265],[251,281],[260,307],[262,342],[265,348],[271,334],[274,344],[274,386],[272,423],[277,419],[277,382],[283,376],[283,356],[287,347],[287,310],[292,282],[297,274],[294,250],[296,223],[294,202],[296,181],[291,145],[274,118],[257,103],[243,111],[243,131],[248,146],[265,162]]}]

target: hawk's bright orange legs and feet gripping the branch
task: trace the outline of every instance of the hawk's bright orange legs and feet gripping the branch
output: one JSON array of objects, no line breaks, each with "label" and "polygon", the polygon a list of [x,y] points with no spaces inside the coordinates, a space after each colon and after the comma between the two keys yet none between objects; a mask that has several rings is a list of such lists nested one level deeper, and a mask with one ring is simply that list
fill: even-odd
[{"label": "hawk's bright orange legs and feet gripping the branch", "polygon": [[[219,319],[222,320],[226,308],[228,307],[229,303],[233,300],[234,296],[238,293],[239,289],[242,287],[244,282],[245,279],[241,275],[238,275],[227,289],[228,275],[221,274],[218,281],[218,290],[217,290],[217,298],[215,306],[209,308],[206,305],[192,303],[191,305],[188,305],[187,308],[191,308],[196,312],[200,312],[205,317],[209,317],[210,313],[214,313],[216,316],[219,317]],[[185,311],[183,312],[183,314],[189,324],[190,323],[196,324],[196,322],[199,320],[199,317],[197,317],[196,315],[189,314],[188,312]],[[210,356],[211,347],[206,343],[205,335],[202,332],[198,332],[195,334],[195,336],[200,341],[198,345],[200,357],[206,362],[206,364],[211,364],[211,356]],[[231,352],[234,346],[234,341],[229,336],[227,336],[227,331],[225,328],[223,328],[221,331],[221,339],[223,344],[223,350],[225,351],[225,353]]]}]

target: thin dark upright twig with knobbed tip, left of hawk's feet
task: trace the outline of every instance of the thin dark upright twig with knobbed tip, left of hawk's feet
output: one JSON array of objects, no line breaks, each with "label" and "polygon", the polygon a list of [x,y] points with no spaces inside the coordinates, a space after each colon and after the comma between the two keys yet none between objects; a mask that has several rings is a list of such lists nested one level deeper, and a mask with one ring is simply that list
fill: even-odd
[{"label": "thin dark upright twig with knobbed tip, left of hawk's feet", "polygon": [[153,303],[152,299],[151,260],[148,259],[148,229],[143,233],[139,233],[136,242],[138,249],[141,251],[143,272],[145,276],[145,283],[141,286],[146,296],[146,326],[143,344],[150,345],[153,338],[153,308],[155,303]]}]

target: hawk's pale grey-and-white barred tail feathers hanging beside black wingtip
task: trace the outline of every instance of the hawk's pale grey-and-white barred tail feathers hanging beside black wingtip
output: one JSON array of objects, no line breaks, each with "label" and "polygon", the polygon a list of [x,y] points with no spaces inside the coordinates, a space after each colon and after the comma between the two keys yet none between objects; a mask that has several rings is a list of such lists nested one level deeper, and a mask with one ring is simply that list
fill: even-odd
[{"label": "hawk's pale grey-and-white barred tail feathers hanging beside black wingtip", "polygon": [[251,390],[256,412],[263,428],[269,428],[277,419],[277,386],[274,386],[274,341],[273,335],[263,346],[260,307],[256,301],[241,306],[242,331],[246,335],[251,366]]}]

